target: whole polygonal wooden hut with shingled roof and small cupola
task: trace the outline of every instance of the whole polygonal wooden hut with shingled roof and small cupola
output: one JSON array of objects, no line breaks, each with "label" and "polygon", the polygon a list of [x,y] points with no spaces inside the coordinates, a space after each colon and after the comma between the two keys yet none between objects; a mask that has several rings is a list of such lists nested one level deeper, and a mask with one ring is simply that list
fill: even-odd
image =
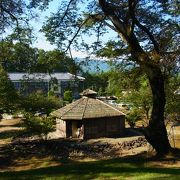
[{"label": "whole polygonal wooden hut with shingled roof and small cupola", "polygon": [[82,98],[51,113],[56,117],[56,131],[64,138],[119,137],[125,129],[125,115],[117,108],[85,90]]}]

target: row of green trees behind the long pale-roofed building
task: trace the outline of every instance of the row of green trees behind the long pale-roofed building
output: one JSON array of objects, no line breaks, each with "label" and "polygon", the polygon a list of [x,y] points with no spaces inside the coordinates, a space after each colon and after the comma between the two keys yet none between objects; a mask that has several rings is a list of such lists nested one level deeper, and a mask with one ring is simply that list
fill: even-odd
[{"label": "row of green trees behind the long pale-roofed building", "polygon": [[59,50],[44,51],[27,43],[0,42],[0,62],[7,72],[70,72],[80,71],[79,65]]}]

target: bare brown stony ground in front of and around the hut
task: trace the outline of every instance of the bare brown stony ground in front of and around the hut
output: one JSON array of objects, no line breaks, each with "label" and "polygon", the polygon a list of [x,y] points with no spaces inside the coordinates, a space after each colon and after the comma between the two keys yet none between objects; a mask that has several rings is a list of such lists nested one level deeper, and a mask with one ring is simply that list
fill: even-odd
[{"label": "bare brown stony ground in front of and around the hut", "polygon": [[[20,122],[20,119],[0,121],[0,171],[55,166],[71,160],[93,161],[139,155],[147,158],[153,152],[144,137],[133,130],[128,131],[129,137],[87,141],[59,139],[56,134],[51,134],[51,137],[56,139],[46,142],[38,138],[14,138],[22,131]],[[180,148],[180,128],[173,129],[173,136],[171,131],[169,128],[172,145]],[[164,161],[157,163],[157,166],[159,165],[180,167],[180,161]]]}]

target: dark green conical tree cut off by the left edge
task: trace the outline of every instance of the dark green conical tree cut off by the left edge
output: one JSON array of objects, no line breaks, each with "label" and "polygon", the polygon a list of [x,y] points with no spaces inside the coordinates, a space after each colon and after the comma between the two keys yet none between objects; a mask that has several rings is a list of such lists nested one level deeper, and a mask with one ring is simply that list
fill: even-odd
[{"label": "dark green conical tree cut off by the left edge", "polygon": [[15,110],[18,104],[18,95],[6,71],[0,65],[0,110]]}]

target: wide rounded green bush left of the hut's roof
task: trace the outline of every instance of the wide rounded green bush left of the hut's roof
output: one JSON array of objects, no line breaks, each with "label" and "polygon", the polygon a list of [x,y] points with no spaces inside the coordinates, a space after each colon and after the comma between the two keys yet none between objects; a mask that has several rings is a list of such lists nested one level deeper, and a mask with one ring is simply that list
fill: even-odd
[{"label": "wide rounded green bush left of the hut's roof", "polygon": [[26,97],[21,97],[21,108],[26,112],[36,113],[43,111],[49,114],[54,109],[62,107],[63,102],[55,96],[45,96],[42,93],[33,93]]}]

